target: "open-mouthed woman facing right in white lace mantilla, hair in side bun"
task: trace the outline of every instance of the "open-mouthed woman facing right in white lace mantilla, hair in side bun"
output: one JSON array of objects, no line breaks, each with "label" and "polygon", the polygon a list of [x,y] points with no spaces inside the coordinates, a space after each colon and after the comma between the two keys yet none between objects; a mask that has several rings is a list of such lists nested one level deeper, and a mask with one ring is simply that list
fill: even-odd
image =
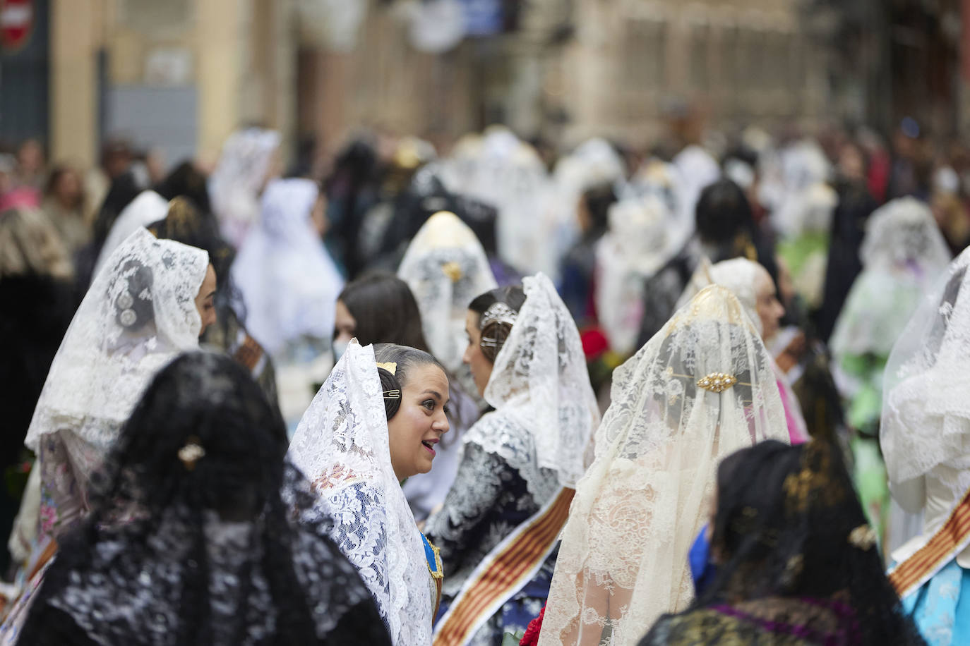
[{"label": "open-mouthed woman facing right in white lace mantilla, hair in side bun", "polygon": [[431,643],[442,569],[401,481],[426,473],[448,431],[448,380],[430,354],[350,344],[300,421],[289,459],[317,496],[314,517],[358,569],[395,646]]}]

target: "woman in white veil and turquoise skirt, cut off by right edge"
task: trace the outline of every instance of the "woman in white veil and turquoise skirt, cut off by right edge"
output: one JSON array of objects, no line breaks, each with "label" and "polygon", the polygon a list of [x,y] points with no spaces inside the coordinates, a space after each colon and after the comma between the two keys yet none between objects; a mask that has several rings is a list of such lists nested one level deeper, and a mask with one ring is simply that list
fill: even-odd
[{"label": "woman in white veil and turquoise skirt, cut off by right edge", "polygon": [[[908,559],[920,560],[917,553],[928,543],[939,542],[934,535],[967,504],[970,491],[970,404],[963,385],[970,361],[968,267],[970,251],[964,251],[921,300],[886,366],[880,444],[889,491],[904,511],[922,516],[919,536],[891,553],[901,571]],[[970,639],[970,548],[960,547],[970,531],[959,529],[947,532],[954,544],[938,551],[949,558],[918,572],[921,585],[899,591],[932,644]]]}]

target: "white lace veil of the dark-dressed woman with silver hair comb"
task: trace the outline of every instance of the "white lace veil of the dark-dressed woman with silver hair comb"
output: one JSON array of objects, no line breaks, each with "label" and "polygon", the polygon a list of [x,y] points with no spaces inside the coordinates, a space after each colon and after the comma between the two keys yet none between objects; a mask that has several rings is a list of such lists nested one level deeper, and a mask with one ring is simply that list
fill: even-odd
[{"label": "white lace veil of the dark-dressed woman with silver hair comb", "polygon": [[475,423],[465,442],[499,454],[542,503],[583,475],[599,412],[579,331],[563,299],[544,274],[522,284],[526,302],[485,387],[496,412]]}]

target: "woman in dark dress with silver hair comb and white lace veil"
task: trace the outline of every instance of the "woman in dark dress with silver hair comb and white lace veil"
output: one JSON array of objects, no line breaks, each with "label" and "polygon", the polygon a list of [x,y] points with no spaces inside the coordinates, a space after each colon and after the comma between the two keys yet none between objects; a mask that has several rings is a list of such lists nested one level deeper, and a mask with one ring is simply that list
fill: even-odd
[{"label": "woman in dark dress with silver hair comb and white lace veil", "polygon": [[[470,575],[497,557],[503,539],[582,476],[599,421],[566,305],[543,274],[523,287],[485,292],[469,304],[465,361],[495,410],[469,429],[458,477],[426,526],[449,571],[442,623],[446,606],[467,598]],[[537,555],[532,578],[494,600],[498,611],[472,621],[464,643],[492,644],[503,632],[525,630],[548,594],[555,558],[554,550]]]}]

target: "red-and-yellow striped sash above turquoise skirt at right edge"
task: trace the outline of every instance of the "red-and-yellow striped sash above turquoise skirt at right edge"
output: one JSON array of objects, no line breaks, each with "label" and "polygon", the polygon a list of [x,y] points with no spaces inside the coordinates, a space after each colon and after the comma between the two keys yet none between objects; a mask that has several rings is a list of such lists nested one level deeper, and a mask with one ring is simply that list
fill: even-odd
[{"label": "red-and-yellow striped sash above turquoise skirt at right edge", "polygon": [[970,544],[970,489],[947,521],[913,556],[889,571],[889,582],[904,599],[943,569]]}]

